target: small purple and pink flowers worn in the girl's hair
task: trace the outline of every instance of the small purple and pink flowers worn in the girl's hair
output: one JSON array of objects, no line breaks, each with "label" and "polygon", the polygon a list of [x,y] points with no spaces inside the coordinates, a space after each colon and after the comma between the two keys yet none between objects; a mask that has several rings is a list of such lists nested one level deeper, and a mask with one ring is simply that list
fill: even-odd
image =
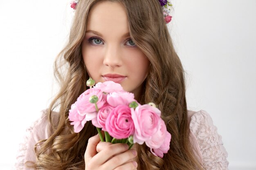
[{"label": "small purple and pink flowers worn in the girl's hair", "polygon": [[[75,0],[70,2],[71,4],[71,8],[76,9],[76,5],[78,4],[79,0]],[[162,6],[162,11],[164,14],[164,21],[166,24],[168,24],[169,22],[171,22],[172,16],[169,15],[170,13],[170,9],[169,7],[173,6],[168,0],[159,0],[160,5]]]}]

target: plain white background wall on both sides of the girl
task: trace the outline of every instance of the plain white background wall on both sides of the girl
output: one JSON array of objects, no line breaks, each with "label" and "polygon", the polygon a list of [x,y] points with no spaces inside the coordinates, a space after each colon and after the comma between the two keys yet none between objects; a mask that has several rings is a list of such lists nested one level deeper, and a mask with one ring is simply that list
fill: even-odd
[{"label": "plain white background wall on both sides of the girl", "polygon": [[[230,170],[256,170],[256,1],[173,0],[168,24],[190,110],[206,110]],[[67,0],[0,0],[0,169],[10,169],[25,129],[55,91],[52,66],[67,40]]]}]

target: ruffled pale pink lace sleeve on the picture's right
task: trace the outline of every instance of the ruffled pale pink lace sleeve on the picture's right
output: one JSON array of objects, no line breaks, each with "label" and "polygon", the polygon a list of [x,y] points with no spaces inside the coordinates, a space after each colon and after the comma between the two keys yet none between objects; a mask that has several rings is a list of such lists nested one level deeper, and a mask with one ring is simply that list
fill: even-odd
[{"label": "ruffled pale pink lace sleeve on the picture's right", "polygon": [[206,111],[200,110],[191,116],[190,130],[198,142],[204,168],[228,170],[228,154],[223,146],[222,137]]}]

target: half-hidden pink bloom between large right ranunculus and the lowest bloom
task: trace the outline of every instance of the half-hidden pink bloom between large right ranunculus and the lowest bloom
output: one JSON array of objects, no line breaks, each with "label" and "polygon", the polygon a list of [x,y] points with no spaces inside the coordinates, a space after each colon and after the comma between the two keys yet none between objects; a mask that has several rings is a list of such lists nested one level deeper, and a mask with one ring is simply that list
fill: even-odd
[{"label": "half-hidden pink bloom between large right ranunculus and the lowest bloom", "polygon": [[158,130],[157,132],[152,136],[152,138],[148,141],[145,141],[146,145],[149,148],[159,148],[163,143],[164,139],[167,134],[167,129],[164,121],[160,119],[160,124],[158,125]]}]

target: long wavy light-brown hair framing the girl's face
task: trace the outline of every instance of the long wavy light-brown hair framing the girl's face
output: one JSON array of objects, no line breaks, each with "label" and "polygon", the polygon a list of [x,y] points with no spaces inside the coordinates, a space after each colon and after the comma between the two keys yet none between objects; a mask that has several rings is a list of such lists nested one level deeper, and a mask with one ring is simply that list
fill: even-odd
[{"label": "long wavy light-brown hair framing the girl's face", "polygon": [[[85,36],[90,9],[102,0],[80,0],[76,7],[69,41],[54,63],[55,77],[60,90],[48,110],[51,135],[35,146],[35,169],[84,170],[84,153],[88,139],[97,134],[87,122],[79,133],[70,125],[71,105],[86,88],[89,78],[83,62],[81,42]],[[162,112],[172,139],[170,150],[163,159],[155,157],[149,148],[137,145],[137,162],[141,170],[196,170],[202,165],[195,157],[189,140],[189,123],[185,97],[184,70],[173,48],[158,0],[109,0],[121,3],[127,13],[129,31],[137,47],[150,61],[148,76],[143,85],[141,104],[154,102]],[[58,108],[58,123],[53,120]],[[37,146],[40,145],[40,149]]]}]

